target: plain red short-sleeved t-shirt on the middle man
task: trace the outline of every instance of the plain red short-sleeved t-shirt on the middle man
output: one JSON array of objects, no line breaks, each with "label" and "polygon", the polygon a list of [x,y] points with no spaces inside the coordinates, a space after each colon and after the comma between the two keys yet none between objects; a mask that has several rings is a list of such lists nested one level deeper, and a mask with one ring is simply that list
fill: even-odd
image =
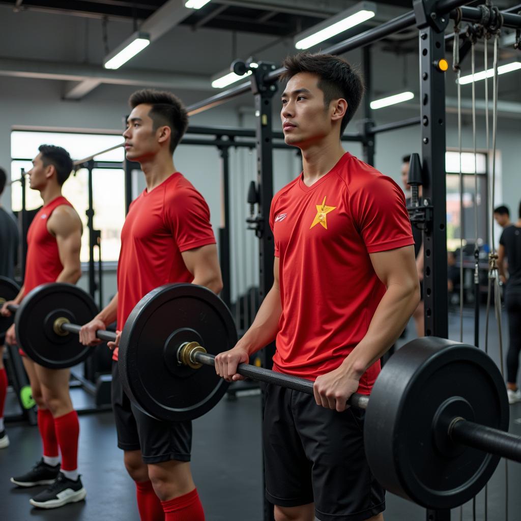
[{"label": "plain red short-sleeved t-shirt on the middle man", "polygon": [[[215,244],[210,210],[203,196],[175,172],[130,204],[121,230],[118,262],[117,328],[134,306],[158,286],[192,282],[181,252]],[[117,360],[117,349],[113,358]]]}]

